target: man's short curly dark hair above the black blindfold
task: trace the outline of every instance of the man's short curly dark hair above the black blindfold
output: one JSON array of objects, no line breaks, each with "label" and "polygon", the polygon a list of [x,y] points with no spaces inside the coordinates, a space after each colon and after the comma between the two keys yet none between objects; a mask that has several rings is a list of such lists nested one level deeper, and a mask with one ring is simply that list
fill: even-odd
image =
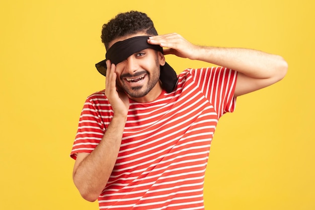
[{"label": "man's short curly dark hair above the black blindfold", "polygon": [[145,13],[130,11],[120,13],[107,24],[104,24],[101,38],[108,49],[108,43],[112,40],[139,32],[144,32],[150,36],[157,35],[152,20]]}]

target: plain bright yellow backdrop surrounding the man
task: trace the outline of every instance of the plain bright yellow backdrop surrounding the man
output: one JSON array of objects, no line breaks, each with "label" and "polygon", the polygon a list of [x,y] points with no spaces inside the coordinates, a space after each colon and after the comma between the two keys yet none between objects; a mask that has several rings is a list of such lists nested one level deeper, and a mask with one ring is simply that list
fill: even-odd
[{"label": "plain bright yellow backdrop surrounding the man", "polygon": [[[315,209],[315,7],[312,0],[0,3],[0,209],[98,209],[81,198],[69,153],[85,98],[105,87],[101,27],[148,14],[160,34],[282,55],[284,80],[238,98],[221,118],[206,209]],[[181,72],[208,64],[167,56]]]}]

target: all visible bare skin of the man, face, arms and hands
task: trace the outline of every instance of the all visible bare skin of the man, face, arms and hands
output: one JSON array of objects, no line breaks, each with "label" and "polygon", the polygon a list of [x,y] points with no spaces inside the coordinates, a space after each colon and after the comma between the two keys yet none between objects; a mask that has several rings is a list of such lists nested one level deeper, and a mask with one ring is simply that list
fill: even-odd
[{"label": "all visible bare skin of the man, face, arms and hands", "polygon": [[[109,43],[109,47],[117,41],[142,35],[147,34],[117,38]],[[287,63],[281,56],[258,50],[198,46],[176,33],[152,36],[148,43],[164,47],[164,54],[202,60],[238,71],[234,96],[270,86],[287,72]],[[105,95],[113,107],[114,117],[96,149],[91,154],[77,154],[73,168],[74,184],[85,199],[95,201],[98,198],[114,168],[127,120],[129,98],[141,103],[155,100],[162,93],[158,78],[159,66],[164,64],[164,55],[152,49],[134,53],[116,66],[107,61]],[[127,81],[139,78],[143,79],[137,83]]]}]

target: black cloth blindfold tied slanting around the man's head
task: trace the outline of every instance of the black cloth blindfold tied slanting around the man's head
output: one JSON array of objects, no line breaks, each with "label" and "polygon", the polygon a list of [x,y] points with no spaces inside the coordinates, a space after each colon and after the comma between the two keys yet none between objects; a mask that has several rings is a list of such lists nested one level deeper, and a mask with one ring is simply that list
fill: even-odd
[{"label": "black cloth blindfold tied slanting around the man's head", "polygon": [[[107,50],[106,59],[95,64],[99,73],[106,76],[106,60],[110,60],[111,63],[117,64],[127,59],[133,53],[147,48],[163,53],[163,48],[160,45],[147,43],[148,38],[149,36],[136,36],[113,44],[113,46]],[[160,67],[160,80],[162,82],[162,86],[168,93],[170,93],[174,90],[177,83],[176,72],[167,62],[165,65],[161,65]]]}]

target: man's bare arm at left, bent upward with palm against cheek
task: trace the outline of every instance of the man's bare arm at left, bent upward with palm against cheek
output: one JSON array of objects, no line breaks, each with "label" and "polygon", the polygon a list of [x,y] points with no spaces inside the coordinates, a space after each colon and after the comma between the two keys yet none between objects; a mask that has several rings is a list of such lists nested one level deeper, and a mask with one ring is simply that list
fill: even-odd
[{"label": "man's bare arm at left, bent upward with palm against cheek", "polygon": [[112,121],[95,150],[91,154],[77,154],[73,167],[73,182],[82,197],[89,201],[98,198],[112,173],[129,108],[127,95],[116,91],[115,65],[110,63],[107,65],[105,95],[113,107]]}]

